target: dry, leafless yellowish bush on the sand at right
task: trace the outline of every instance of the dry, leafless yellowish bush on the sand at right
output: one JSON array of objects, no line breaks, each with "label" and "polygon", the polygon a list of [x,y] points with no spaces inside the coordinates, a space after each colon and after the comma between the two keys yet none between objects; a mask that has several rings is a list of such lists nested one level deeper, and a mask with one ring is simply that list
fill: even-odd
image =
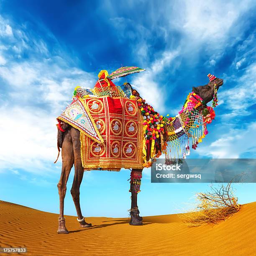
[{"label": "dry, leafless yellowish bush on the sand at right", "polygon": [[198,193],[199,204],[196,209],[179,214],[183,223],[188,227],[218,224],[238,212],[241,205],[237,202],[231,184],[232,181],[218,188],[211,185],[210,192]]}]

